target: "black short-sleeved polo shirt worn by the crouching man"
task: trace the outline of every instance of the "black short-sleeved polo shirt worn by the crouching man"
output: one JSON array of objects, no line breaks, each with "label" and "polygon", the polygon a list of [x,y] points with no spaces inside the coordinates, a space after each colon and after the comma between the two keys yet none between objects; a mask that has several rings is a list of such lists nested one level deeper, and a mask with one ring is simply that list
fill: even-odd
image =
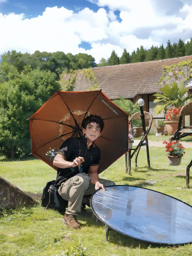
[{"label": "black short-sleeved polo shirt worn by the crouching man", "polygon": [[64,156],[64,159],[69,162],[78,157],[84,157],[85,162],[78,166],[70,168],[58,168],[56,186],[57,188],[67,179],[77,175],[80,172],[87,173],[90,165],[98,165],[100,161],[100,149],[93,143],[90,148],[87,148],[87,138],[81,136],[80,138],[71,137],[64,141],[57,154]]}]

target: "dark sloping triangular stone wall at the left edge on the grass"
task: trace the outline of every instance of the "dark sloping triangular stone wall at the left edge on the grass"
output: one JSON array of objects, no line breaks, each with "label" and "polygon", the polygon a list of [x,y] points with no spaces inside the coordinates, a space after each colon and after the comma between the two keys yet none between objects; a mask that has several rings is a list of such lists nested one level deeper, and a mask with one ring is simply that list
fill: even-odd
[{"label": "dark sloping triangular stone wall at the left edge on the grass", "polygon": [[0,177],[0,207],[15,209],[20,206],[37,204],[28,194]]}]

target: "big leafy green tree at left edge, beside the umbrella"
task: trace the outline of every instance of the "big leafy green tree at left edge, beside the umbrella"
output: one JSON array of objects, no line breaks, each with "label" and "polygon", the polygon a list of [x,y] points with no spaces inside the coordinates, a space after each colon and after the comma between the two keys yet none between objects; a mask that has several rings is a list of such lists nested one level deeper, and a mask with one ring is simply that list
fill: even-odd
[{"label": "big leafy green tree at left edge, beside the umbrella", "polygon": [[[21,157],[30,152],[30,131],[26,120],[47,101],[60,84],[51,71],[31,70],[0,83],[0,150],[8,157]],[[4,66],[1,67],[1,72]],[[3,70],[4,71],[4,70]],[[11,72],[11,71],[10,71]],[[6,73],[6,70],[4,71]]]}]

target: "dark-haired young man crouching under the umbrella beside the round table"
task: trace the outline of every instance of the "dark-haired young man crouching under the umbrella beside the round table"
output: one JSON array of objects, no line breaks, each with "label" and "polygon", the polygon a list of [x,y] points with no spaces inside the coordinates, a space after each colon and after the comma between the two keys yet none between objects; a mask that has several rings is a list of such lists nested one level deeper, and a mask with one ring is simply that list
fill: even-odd
[{"label": "dark-haired young man crouching under the umbrella beside the round table", "polygon": [[100,149],[94,141],[104,128],[102,118],[90,115],[83,120],[81,127],[83,136],[64,141],[53,160],[53,165],[58,167],[58,192],[68,201],[63,222],[69,228],[80,228],[76,216],[81,213],[83,204],[89,204],[88,196],[98,188],[105,191],[105,186],[115,185],[113,181],[99,179],[97,173]]}]

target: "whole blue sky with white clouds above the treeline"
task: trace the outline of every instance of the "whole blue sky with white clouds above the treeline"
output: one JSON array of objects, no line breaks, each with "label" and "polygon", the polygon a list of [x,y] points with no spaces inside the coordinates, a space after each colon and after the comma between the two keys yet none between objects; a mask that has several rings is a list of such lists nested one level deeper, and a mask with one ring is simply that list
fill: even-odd
[{"label": "whole blue sky with white clouds above the treeline", "polygon": [[0,55],[81,52],[99,63],[191,37],[192,0],[0,0]]}]

